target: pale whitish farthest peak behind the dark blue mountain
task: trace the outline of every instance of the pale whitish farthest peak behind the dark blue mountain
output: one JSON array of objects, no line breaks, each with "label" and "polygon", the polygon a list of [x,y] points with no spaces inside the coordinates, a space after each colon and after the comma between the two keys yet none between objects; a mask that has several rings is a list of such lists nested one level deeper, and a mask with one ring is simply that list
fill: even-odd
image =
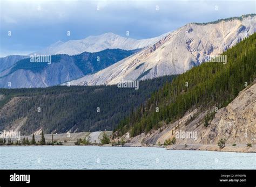
[{"label": "pale whitish farthest peak behind the dark blue mountain", "polygon": [[136,40],[132,38],[121,37],[114,33],[105,33],[102,35],[90,36],[82,40],[69,40],[67,42],[57,41],[55,44],[35,52],[36,54],[68,54],[76,55],[83,52],[95,53],[104,49],[125,49],[133,50],[144,48],[154,44],[167,34],[159,37]]}]

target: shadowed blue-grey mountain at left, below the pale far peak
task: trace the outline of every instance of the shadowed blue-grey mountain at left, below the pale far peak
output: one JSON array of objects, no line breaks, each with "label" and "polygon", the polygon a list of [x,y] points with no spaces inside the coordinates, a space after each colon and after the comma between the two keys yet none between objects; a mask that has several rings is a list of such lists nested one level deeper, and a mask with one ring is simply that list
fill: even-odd
[{"label": "shadowed blue-grey mountain at left, below the pale far peak", "polygon": [[105,49],[97,53],[52,55],[51,62],[30,62],[30,58],[15,63],[0,73],[0,88],[49,87],[95,73],[130,56],[139,49]]}]

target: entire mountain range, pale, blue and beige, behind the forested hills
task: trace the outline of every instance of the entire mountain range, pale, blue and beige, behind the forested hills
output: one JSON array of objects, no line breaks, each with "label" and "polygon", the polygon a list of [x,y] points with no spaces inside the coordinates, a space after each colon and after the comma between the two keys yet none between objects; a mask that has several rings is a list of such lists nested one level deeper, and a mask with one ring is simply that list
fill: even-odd
[{"label": "entire mountain range, pale, blue and beige, behind the forested hills", "polygon": [[[0,87],[8,88],[9,82],[12,88],[49,87],[66,85],[66,82],[71,85],[110,85],[122,80],[146,80],[182,74],[205,62],[207,57],[221,54],[254,32],[256,16],[251,14],[206,24],[190,23],[176,31],[144,40],[105,33],[83,40],[58,41],[44,51],[35,52],[51,54],[51,66],[29,63],[28,59],[19,55],[1,58]],[[130,48],[142,50],[122,51]],[[84,50],[98,51],[95,53],[99,53],[103,61],[95,62],[97,56],[89,55],[90,52],[81,54]],[[104,50],[113,51],[105,53]],[[54,55],[60,52],[63,54]],[[80,56],[69,56],[76,53]]]}]

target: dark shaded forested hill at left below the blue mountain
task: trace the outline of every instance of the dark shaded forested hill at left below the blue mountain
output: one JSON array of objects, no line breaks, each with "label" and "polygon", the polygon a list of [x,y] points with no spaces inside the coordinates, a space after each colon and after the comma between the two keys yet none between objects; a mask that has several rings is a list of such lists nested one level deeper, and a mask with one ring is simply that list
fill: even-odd
[{"label": "dark shaded forested hill at left below the blue mountain", "polygon": [[45,133],[113,130],[173,77],[140,81],[138,90],[117,85],[0,89],[0,131],[17,126],[22,134],[40,128]]}]

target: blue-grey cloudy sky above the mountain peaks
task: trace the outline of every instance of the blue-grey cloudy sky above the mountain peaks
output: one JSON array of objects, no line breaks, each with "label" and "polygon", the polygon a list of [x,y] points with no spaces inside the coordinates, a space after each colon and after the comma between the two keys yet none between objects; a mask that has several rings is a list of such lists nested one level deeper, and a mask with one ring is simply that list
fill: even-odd
[{"label": "blue-grey cloudy sky above the mountain peaks", "polygon": [[0,56],[6,56],[106,32],[156,37],[191,22],[255,13],[256,1],[9,0],[1,1],[0,11]]}]

